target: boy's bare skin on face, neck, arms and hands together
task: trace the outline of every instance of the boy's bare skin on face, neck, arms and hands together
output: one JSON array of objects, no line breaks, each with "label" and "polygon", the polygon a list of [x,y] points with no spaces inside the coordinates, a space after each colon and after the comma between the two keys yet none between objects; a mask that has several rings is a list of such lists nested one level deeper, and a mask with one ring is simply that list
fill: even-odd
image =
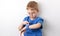
[{"label": "boy's bare skin on face, neck, arms and hands together", "polygon": [[[38,15],[39,12],[38,12],[36,9],[29,7],[29,8],[27,9],[27,13],[28,13],[29,16],[30,16],[30,19],[31,19],[31,20],[34,20],[34,19],[37,17],[37,15]],[[19,31],[20,31],[20,36],[21,36],[22,32],[24,32],[25,29],[26,29],[26,27],[23,27],[24,24],[29,24],[29,22],[23,21],[23,22],[21,23],[21,25],[18,27],[18,29],[19,29]],[[39,28],[39,27],[41,27],[41,24],[40,24],[40,23],[37,23],[37,24],[30,25],[30,26],[29,26],[29,29],[36,29],[36,28]]]}]

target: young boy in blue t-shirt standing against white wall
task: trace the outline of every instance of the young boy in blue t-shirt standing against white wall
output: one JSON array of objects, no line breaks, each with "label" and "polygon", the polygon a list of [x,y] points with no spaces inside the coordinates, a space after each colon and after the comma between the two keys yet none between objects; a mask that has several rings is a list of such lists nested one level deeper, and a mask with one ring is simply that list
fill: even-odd
[{"label": "young boy in blue t-shirt standing against white wall", "polygon": [[19,26],[20,36],[24,32],[24,36],[42,36],[43,19],[38,17],[39,9],[35,1],[30,1],[27,4],[27,13],[29,14],[24,18]]}]

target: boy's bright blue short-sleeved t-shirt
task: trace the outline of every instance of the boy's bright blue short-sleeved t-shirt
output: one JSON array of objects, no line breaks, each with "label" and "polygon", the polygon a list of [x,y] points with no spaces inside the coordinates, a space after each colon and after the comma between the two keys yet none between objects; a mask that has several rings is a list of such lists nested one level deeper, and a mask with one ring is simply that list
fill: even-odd
[{"label": "boy's bright blue short-sleeved t-shirt", "polygon": [[43,19],[40,17],[36,17],[35,19],[31,20],[29,16],[25,17],[23,21],[28,21],[29,25],[37,24],[40,23],[41,27],[36,28],[36,29],[27,29],[24,32],[24,36],[42,36],[42,24],[43,24]]}]

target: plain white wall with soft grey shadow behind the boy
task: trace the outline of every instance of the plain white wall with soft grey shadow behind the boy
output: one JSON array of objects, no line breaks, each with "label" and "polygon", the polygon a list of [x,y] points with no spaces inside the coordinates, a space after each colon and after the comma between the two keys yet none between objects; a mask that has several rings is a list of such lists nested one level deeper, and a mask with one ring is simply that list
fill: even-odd
[{"label": "plain white wall with soft grey shadow behind the boy", "polygon": [[[0,36],[19,36],[17,26],[26,15],[30,0],[0,0]],[[43,36],[60,36],[60,0],[35,0],[41,4]]]}]

